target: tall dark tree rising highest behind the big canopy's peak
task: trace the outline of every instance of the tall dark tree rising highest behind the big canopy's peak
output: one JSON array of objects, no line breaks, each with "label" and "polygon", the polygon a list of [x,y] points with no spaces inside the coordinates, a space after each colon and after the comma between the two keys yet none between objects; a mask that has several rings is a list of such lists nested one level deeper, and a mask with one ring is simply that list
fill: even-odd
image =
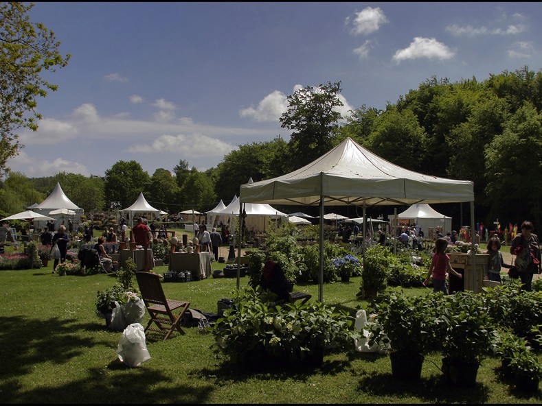
[{"label": "tall dark tree rising highest behind the big canopy's peak", "polygon": [[343,106],[337,97],[341,82],[306,86],[288,96],[288,110],[280,117],[282,128],[293,130],[290,136],[291,169],[302,167],[331,147],[337,132],[341,113],[335,108]]}]

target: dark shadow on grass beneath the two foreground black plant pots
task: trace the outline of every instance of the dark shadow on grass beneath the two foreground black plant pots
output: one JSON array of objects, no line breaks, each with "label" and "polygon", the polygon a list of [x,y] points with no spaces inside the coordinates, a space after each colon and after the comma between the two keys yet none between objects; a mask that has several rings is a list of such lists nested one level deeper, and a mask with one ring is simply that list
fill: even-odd
[{"label": "dark shadow on grass beneath the two foreground black plant pots", "polygon": [[487,403],[489,390],[485,385],[453,385],[441,375],[416,381],[400,380],[391,373],[370,372],[361,375],[358,390],[372,396],[397,396],[425,399],[427,403]]}]

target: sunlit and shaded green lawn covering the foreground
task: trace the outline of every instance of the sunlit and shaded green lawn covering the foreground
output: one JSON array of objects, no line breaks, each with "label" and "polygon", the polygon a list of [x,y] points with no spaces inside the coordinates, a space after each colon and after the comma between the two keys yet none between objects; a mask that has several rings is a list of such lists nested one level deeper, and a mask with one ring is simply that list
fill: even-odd
[{"label": "sunlit and shaded green lawn covering the foreground", "polygon": [[[223,266],[212,263],[214,270]],[[249,373],[217,358],[212,335],[196,328],[167,342],[148,333],[151,359],[127,368],[115,353],[122,333],[107,330],[94,312],[96,292],[115,278],[51,272],[52,262],[38,270],[0,272],[0,403],[541,403],[540,392],[523,395],[501,379],[499,359],[485,359],[477,385],[460,390],[442,379],[439,354],[426,357],[422,379],[414,383],[393,379],[388,357],[353,348],[326,355],[317,370]],[[247,281],[241,278],[241,287]],[[163,284],[169,298],[212,313],[235,287],[235,278]],[[317,285],[295,289],[318,298]],[[324,285],[324,302],[354,313],[366,305],[356,299],[358,290],[359,278]]]}]

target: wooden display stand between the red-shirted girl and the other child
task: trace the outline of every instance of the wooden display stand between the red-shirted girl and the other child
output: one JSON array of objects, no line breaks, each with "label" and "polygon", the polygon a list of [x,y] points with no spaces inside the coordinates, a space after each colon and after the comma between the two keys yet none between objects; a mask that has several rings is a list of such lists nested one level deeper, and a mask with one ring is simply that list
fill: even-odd
[{"label": "wooden display stand between the red-shirted girl and the other child", "polygon": [[[463,278],[459,279],[457,276],[450,275],[450,293],[455,290],[471,290],[475,293],[482,291],[482,285],[484,275],[486,274],[486,268],[488,266],[489,254],[476,254],[476,263],[473,266],[472,254],[466,254],[464,252],[449,252],[450,265],[454,270],[463,274]],[[460,282],[463,282],[462,284]],[[452,285],[457,289],[452,289]],[[462,285],[462,289],[460,289]],[[453,290],[453,291],[452,291]]]}]

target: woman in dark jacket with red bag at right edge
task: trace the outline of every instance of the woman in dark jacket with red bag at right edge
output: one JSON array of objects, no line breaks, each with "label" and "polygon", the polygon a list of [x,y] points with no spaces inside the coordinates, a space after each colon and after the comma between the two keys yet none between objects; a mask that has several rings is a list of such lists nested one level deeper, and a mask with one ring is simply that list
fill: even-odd
[{"label": "woman in dark jacket with red bag at right edge", "polygon": [[521,233],[510,242],[510,254],[516,256],[515,265],[526,291],[532,290],[532,276],[542,273],[539,237],[533,230],[532,222],[521,223]]}]

